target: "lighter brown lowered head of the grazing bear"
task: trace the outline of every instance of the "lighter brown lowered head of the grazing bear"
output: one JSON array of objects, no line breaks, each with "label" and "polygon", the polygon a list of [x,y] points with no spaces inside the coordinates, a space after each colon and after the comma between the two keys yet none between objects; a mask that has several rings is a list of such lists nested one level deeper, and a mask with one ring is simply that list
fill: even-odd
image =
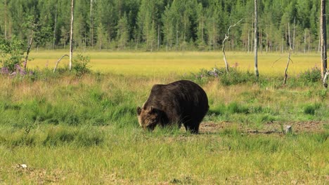
[{"label": "lighter brown lowered head of the grazing bear", "polygon": [[144,130],[154,130],[157,123],[160,121],[160,111],[150,107],[137,107],[138,123]]}]

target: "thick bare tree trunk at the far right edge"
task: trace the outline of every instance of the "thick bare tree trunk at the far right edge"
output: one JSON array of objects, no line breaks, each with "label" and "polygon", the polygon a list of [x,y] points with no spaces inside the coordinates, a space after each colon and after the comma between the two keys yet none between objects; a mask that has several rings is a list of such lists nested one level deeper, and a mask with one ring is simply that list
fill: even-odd
[{"label": "thick bare tree trunk at the far right edge", "polygon": [[327,71],[327,25],[325,18],[325,0],[321,0],[321,78]]}]

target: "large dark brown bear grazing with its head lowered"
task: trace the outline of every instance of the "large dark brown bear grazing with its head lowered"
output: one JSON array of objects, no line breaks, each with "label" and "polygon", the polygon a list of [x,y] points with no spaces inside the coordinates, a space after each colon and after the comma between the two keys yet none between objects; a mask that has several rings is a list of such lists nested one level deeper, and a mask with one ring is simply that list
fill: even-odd
[{"label": "large dark brown bear grazing with its head lowered", "polygon": [[143,107],[137,107],[138,122],[143,129],[154,130],[156,125],[184,125],[186,131],[199,132],[199,125],[209,109],[208,98],[198,84],[175,81],[153,85]]}]

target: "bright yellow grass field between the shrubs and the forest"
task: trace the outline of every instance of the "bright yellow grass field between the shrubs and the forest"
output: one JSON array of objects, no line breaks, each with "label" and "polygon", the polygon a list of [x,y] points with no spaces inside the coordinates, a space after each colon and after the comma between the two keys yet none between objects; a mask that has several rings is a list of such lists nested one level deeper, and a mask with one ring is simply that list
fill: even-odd
[{"label": "bright yellow grass field between the shrubs and the forest", "polygon": [[[42,50],[32,51],[32,59],[27,66],[30,68],[49,67],[53,69],[56,61],[65,50]],[[76,51],[74,54],[77,55]],[[86,52],[80,53],[91,58],[90,66],[94,71],[110,72],[124,75],[145,76],[167,76],[170,74],[183,75],[200,69],[211,69],[212,67],[224,67],[223,54],[221,52]],[[241,70],[254,70],[253,53],[227,52],[226,58],[231,67]],[[279,60],[280,59],[280,60]],[[259,53],[259,73],[261,75],[283,74],[287,64],[287,53]],[[296,75],[301,71],[320,67],[321,59],[318,53],[294,53],[288,74]],[[276,60],[278,60],[276,62]],[[68,57],[60,63],[60,67],[68,65]]]}]

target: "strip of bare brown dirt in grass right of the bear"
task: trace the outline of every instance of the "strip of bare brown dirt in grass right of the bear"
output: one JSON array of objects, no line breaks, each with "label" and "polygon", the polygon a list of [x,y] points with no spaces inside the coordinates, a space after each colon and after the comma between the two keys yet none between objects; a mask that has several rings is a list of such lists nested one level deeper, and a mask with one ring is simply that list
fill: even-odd
[{"label": "strip of bare brown dirt in grass right of the bear", "polygon": [[216,133],[222,132],[225,129],[236,128],[240,132],[253,133],[253,134],[272,134],[272,133],[283,133],[285,127],[290,125],[292,127],[292,132],[324,132],[325,121],[290,121],[290,122],[270,122],[265,123],[259,128],[254,128],[250,125],[243,125],[239,123],[231,122],[205,122],[200,125],[201,133]]}]

